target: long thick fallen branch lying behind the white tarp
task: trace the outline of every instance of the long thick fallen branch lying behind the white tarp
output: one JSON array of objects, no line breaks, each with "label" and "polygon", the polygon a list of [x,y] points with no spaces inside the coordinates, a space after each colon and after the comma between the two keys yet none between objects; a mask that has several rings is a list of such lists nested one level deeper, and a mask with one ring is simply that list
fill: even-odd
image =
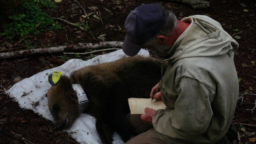
[{"label": "long thick fallen branch lying behind the white tarp", "polygon": [[99,44],[92,44],[92,43],[86,43],[86,44],[76,44],[76,45],[69,45],[69,46],[56,46],[56,47],[50,47],[50,48],[37,48],[37,49],[29,49],[29,50],[21,50],[21,51],[14,51],[14,52],[5,52],[0,53],[0,60],[6,59],[6,58],[18,58],[22,56],[30,56],[33,54],[55,54],[65,51],[71,51],[71,50],[99,50],[104,48],[122,48],[123,42],[113,41],[113,42],[100,42]]}]

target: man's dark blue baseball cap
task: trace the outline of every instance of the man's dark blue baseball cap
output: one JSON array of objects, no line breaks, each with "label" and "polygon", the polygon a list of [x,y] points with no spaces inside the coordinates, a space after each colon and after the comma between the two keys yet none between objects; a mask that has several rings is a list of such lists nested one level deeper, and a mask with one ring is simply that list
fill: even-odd
[{"label": "man's dark blue baseball cap", "polygon": [[163,13],[158,3],[143,4],[132,10],[127,16],[124,28],[126,38],[122,45],[128,56],[138,54],[143,43],[158,33],[166,23],[166,13]]}]

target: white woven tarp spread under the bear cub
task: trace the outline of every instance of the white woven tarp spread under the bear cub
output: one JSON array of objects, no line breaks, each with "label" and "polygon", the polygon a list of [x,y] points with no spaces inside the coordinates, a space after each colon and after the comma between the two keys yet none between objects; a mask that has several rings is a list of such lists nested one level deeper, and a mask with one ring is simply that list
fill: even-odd
[{"label": "white woven tarp spread under the bear cub", "polygon": [[[139,54],[145,57],[149,56],[149,52],[143,49],[140,50]],[[30,78],[25,78],[24,80],[14,84],[12,88],[6,91],[6,94],[11,98],[14,98],[14,100],[20,104],[21,108],[33,110],[44,118],[54,121],[48,108],[47,97],[45,96],[47,90],[51,86],[48,83],[48,75],[50,73],[60,71],[62,74],[69,75],[79,68],[104,62],[112,62],[125,56],[126,55],[122,50],[117,50],[109,54],[96,56],[88,61],[71,59],[61,66],[50,70],[44,70]],[[36,102],[39,102],[37,106],[35,105]],[[65,131],[70,132],[72,137],[81,144],[100,144],[101,140],[98,136],[98,132],[96,131],[95,122],[96,120],[94,117],[88,114],[81,114],[72,127]],[[124,144],[120,136],[116,133],[114,134],[113,143]]]}]

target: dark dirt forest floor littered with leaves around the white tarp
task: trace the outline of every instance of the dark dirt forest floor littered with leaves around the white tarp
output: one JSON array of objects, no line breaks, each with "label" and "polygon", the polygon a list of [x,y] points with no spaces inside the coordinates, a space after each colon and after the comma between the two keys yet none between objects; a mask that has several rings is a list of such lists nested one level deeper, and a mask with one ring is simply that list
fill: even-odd
[{"label": "dark dirt forest floor littered with leaves around the white tarp", "polygon": [[[136,6],[143,3],[159,2],[172,10],[180,20],[183,17],[201,14],[208,15],[222,24],[231,36],[240,44],[235,53],[235,64],[238,74],[240,94],[234,122],[239,130],[240,144],[254,144],[256,136],[256,1],[255,0],[208,0],[210,7],[206,10],[194,10],[192,7],[168,0],[78,0],[80,6],[87,14],[94,12],[98,18],[89,16],[83,18],[84,10],[74,0],[62,0],[56,3],[56,9],[43,9],[52,17],[63,18],[69,22],[83,22],[88,24],[88,32],[58,21],[65,30],[60,32],[40,33],[36,38],[28,37],[26,40],[37,48],[72,45],[78,43],[99,43],[104,36],[105,41],[123,41],[126,32],[124,21],[126,16]],[[171,0],[170,0],[171,1]],[[91,10],[94,8],[94,10]],[[74,11],[76,10],[76,11]],[[8,48],[8,43],[16,44],[19,40],[9,41],[2,36],[0,30],[0,47],[5,51],[25,50],[26,44],[20,42],[14,47]],[[51,33],[49,35],[49,33]],[[92,55],[105,54],[110,51],[103,51],[94,54],[81,56],[86,60]],[[162,57],[151,51],[152,56]],[[1,144],[74,144],[77,143],[66,132],[58,131],[54,124],[34,114],[32,110],[22,110],[18,103],[4,94],[16,83],[17,78],[28,78],[38,72],[60,66],[51,58],[63,58],[64,54],[37,54],[20,58],[0,60],[0,143]],[[74,55],[67,55],[69,58],[78,58]]]}]

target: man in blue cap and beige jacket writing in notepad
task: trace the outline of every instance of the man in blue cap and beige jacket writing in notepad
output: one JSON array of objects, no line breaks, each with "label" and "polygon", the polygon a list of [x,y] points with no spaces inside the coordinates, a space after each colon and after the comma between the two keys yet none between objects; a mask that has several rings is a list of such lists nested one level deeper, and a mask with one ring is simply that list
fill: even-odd
[{"label": "man in blue cap and beige jacket writing in notepad", "polygon": [[124,26],[127,36],[122,49],[126,55],[134,56],[146,47],[170,56],[162,80],[150,94],[167,107],[158,111],[145,108],[146,114],[130,115],[134,133],[139,135],[127,143],[220,141],[230,127],[238,98],[233,61],[238,43],[208,16],[179,21],[159,4],[138,6]]}]

